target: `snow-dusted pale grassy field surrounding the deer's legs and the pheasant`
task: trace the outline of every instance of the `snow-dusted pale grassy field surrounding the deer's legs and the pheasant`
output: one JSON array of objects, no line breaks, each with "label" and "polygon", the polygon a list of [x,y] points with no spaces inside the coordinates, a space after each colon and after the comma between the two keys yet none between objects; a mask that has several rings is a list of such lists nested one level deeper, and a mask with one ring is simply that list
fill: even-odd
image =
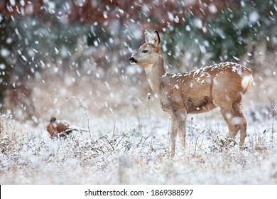
[{"label": "snow-dusted pale grassy field surrounding the deer's legs and the pheasant", "polygon": [[[254,75],[244,96],[244,151],[237,144],[222,146],[227,124],[214,109],[188,116],[187,149],[183,153],[177,142],[173,159],[169,115],[155,97],[148,99],[148,88],[141,91],[143,84],[44,75],[48,82],[33,82],[32,101],[26,102],[36,114],[28,117],[20,107],[1,114],[1,184],[277,183],[275,75]],[[46,126],[53,115],[87,131],[50,139]]]}]

